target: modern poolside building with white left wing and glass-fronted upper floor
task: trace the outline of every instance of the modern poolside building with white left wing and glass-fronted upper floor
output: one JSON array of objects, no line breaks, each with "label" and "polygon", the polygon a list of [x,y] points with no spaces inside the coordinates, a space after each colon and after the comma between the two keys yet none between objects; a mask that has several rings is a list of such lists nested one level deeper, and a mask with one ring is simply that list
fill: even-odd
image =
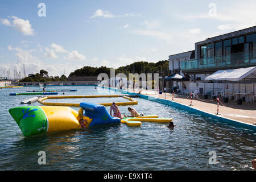
[{"label": "modern poolside building with white left wing and glass-fronted upper floor", "polygon": [[[256,26],[197,42],[195,51],[170,55],[168,60],[169,72],[159,77],[160,87],[166,87],[167,92],[172,92],[174,86],[187,92],[202,87],[203,92],[207,90],[201,86],[205,77],[218,70],[256,66]],[[164,79],[176,73],[190,81]]]}]

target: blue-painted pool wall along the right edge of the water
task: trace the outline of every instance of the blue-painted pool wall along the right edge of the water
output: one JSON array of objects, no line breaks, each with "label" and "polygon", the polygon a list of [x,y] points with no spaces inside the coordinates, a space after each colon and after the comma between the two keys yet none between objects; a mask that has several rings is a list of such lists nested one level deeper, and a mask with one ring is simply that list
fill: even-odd
[{"label": "blue-painted pool wall along the right edge of the water", "polygon": [[[104,86],[101,86],[101,87],[104,88]],[[105,88],[115,90],[115,91],[120,90],[120,89],[109,88],[109,87],[105,87]],[[143,99],[146,99],[146,100],[155,101],[155,102],[159,102],[159,103],[162,103],[162,104],[167,104],[167,105],[174,106],[176,108],[179,108],[179,109],[182,109],[182,110],[185,110],[185,111],[191,111],[192,113],[195,113],[195,114],[201,114],[205,117],[211,117],[213,119],[218,119],[218,121],[220,121],[220,122],[224,122],[224,123],[228,123],[230,125],[234,125],[234,126],[237,126],[237,127],[242,127],[244,129],[249,129],[249,130],[256,131],[256,126],[255,125],[250,125],[248,123],[244,123],[244,122],[241,122],[241,121],[225,118],[225,117],[222,117],[221,115],[215,115],[215,114],[207,113],[203,110],[195,109],[191,106],[180,104],[180,103],[177,103],[177,102],[174,102],[174,101],[171,101],[171,100],[164,100],[162,98],[146,96],[146,95],[143,95],[143,94],[137,94],[137,93],[129,92],[129,91],[126,91],[126,90],[122,90],[122,93],[127,93],[127,94],[131,94],[131,95],[134,95],[134,94],[139,95],[139,97],[141,97]]]}]

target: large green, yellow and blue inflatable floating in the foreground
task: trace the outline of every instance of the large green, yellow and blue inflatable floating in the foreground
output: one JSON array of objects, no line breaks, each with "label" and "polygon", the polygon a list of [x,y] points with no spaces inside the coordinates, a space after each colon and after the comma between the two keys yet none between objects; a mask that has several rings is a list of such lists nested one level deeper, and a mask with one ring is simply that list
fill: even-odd
[{"label": "large green, yellow and blue inflatable floating in the foreground", "polygon": [[[78,111],[63,106],[21,106],[9,109],[24,137],[32,135],[81,129],[79,120],[86,119],[85,127],[120,123],[111,117],[105,106],[81,103]],[[85,114],[82,111],[85,111]]]}]

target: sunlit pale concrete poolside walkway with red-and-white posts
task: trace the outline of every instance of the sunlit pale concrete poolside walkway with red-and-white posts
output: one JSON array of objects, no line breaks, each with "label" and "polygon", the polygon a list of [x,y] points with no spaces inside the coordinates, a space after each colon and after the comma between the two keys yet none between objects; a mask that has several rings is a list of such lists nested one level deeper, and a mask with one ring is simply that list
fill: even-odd
[{"label": "sunlit pale concrete poolside walkway with red-and-white posts", "polygon": [[[156,94],[154,91],[149,90],[135,90],[134,93],[139,93],[141,91],[141,94],[156,98],[165,99],[165,94]],[[132,91],[133,92],[133,91]],[[183,105],[190,105],[191,97],[189,96],[182,96],[177,95],[174,97],[174,100],[172,100],[172,94],[166,93],[166,99],[171,100],[173,102],[177,102],[179,104]],[[187,98],[188,97],[188,98]],[[201,100],[210,101],[210,99],[204,99],[204,97],[199,97]],[[233,119],[236,121],[253,124],[256,122],[256,104],[254,103],[246,103],[242,102],[242,105],[237,105],[237,101],[228,101],[223,102],[221,101],[224,106],[221,104],[218,108],[218,113],[221,117]],[[210,114],[216,114],[217,113],[217,101],[211,101],[211,102],[204,102],[199,101],[197,98],[193,98],[192,100],[192,106],[195,109],[205,111]]]}]

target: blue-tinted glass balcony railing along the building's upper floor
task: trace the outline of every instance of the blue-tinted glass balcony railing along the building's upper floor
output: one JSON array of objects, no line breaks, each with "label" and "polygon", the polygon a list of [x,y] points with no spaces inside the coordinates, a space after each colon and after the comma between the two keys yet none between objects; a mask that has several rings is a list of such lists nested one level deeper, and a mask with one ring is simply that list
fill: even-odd
[{"label": "blue-tinted glass balcony railing along the building's upper floor", "polygon": [[182,72],[256,66],[256,51],[233,53],[181,62]]}]

